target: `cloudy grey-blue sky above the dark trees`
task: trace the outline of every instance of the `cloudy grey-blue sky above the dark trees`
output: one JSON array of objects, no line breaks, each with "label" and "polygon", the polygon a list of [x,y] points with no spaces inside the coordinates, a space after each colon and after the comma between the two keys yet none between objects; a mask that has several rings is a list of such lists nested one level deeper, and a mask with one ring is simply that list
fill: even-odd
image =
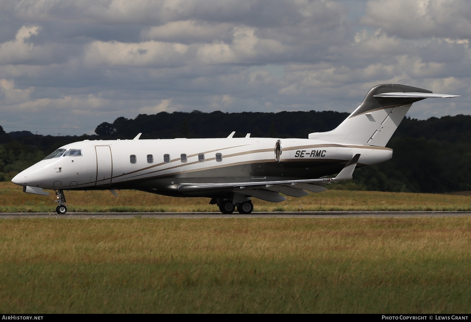
[{"label": "cloudy grey-blue sky above the dark trees", "polygon": [[0,125],[351,112],[381,83],[463,95],[411,117],[471,114],[470,37],[468,0],[1,0]]}]

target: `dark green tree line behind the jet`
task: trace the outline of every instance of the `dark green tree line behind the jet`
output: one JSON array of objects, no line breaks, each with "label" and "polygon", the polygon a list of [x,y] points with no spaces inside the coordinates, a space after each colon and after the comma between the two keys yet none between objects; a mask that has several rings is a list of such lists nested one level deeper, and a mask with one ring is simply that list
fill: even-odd
[{"label": "dark green tree line behind the jet", "polygon": [[[203,113],[161,112],[135,119],[118,117],[103,122],[95,135],[41,136],[29,131],[10,132],[0,127],[0,180],[60,147],[85,139],[141,139],[174,137],[308,137],[311,132],[334,129],[349,113]],[[444,193],[471,190],[471,116],[456,115],[417,120],[406,117],[387,145],[394,150],[390,161],[357,169],[353,180],[338,188],[393,192]]]}]

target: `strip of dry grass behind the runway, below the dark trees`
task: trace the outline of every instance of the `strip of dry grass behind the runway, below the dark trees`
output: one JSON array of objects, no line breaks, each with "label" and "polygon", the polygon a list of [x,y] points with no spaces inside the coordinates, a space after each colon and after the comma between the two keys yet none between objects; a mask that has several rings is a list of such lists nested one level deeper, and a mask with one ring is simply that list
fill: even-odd
[{"label": "strip of dry grass behind the runway, below the dark trees", "polygon": [[[194,212],[219,211],[208,198],[173,198],[139,191],[65,192],[69,212]],[[54,192],[49,196],[23,193],[22,187],[0,182],[0,212],[54,212]],[[272,203],[253,198],[254,211],[471,211],[471,195],[386,193],[327,190],[302,198],[288,197]]]}]

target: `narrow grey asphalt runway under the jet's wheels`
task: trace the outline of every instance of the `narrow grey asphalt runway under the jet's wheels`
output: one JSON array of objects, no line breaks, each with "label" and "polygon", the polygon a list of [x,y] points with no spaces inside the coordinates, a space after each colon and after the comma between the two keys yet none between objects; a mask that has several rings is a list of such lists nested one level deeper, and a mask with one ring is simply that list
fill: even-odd
[{"label": "narrow grey asphalt runway under the jet's wheels", "polygon": [[297,212],[252,212],[249,215],[219,212],[70,212],[58,215],[52,212],[0,213],[0,219],[7,218],[64,218],[64,219],[124,219],[124,218],[401,218],[401,217],[468,217],[470,211],[297,211]]}]

